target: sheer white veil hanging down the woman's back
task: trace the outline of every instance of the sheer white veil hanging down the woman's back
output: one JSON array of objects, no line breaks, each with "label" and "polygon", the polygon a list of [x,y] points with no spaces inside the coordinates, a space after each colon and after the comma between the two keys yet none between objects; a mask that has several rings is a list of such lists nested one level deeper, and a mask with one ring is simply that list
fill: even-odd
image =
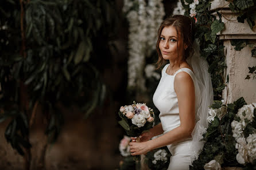
[{"label": "sheer white veil hanging down the woman's back", "polygon": [[[198,156],[203,149],[204,141],[203,134],[208,128],[208,106],[210,106],[214,100],[214,92],[212,90],[211,74],[208,73],[208,63],[205,58],[200,55],[200,48],[198,39],[193,42],[194,53],[192,57],[189,57],[187,62],[192,67],[195,73],[197,85],[200,89],[199,106],[196,110],[196,125],[192,132],[192,145],[191,152],[191,164],[194,160],[198,159]],[[196,94],[198,95],[198,94]]]}]

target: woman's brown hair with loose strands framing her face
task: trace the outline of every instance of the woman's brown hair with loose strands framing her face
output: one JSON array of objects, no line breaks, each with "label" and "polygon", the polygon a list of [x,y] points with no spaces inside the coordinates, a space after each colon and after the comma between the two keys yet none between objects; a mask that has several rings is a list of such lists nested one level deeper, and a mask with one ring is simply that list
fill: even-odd
[{"label": "woman's brown hair with loose strands framing her face", "polygon": [[[178,41],[180,39],[183,40],[183,44],[186,44],[188,47],[187,49],[184,50],[183,56],[178,60],[178,62],[185,61],[188,57],[193,55],[193,41],[195,39],[194,37],[194,30],[195,30],[195,23],[193,22],[192,18],[186,17],[184,15],[173,15],[170,18],[166,18],[164,21],[162,21],[159,29],[158,29],[158,34],[157,34],[157,53],[158,53],[158,61],[157,61],[157,69],[159,69],[162,65],[162,62],[164,58],[162,58],[162,54],[159,48],[159,44],[161,41],[161,33],[162,29],[164,27],[168,26],[174,26],[177,34],[178,34]],[[179,33],[181,35],[181,38],[179,38]],[[183,48],[177,46],[177,53],[179,56],[179,50],[178,48]]]}]

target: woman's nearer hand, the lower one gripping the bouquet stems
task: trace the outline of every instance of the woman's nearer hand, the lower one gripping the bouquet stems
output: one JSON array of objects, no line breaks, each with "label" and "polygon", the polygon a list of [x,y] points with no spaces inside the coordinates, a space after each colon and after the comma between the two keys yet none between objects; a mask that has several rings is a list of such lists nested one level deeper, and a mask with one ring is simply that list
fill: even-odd
[{"label": "woman's nearer hand, the lower one gripping the bouquet stems", "polygon": [[130,152],[132,156],[144,155],[151,150],[147,142],[142,142],[142,143],[131,142],[129,143],[129,145],[130,145]]}]

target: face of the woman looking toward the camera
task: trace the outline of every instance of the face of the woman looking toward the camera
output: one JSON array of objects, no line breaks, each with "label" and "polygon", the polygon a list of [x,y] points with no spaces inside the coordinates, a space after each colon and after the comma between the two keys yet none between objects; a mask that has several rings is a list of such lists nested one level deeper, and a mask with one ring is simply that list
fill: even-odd
[{"label": "face of the woman looking toward the camera", "polygon": [[[179,34],[179,37],[181,35]],[[179,43],[179,55],[183,54],[183,48],[181,48],[182,39],[179,38],[178,40],[178,35],[177,31],[174,26],[168,26],[164,27],[162,29],[162,33],[160,35],[160,43],[159,43],[159,49],[162,54],[162,58],[165,60],[176,60],[178,58],[178,43]]]}]

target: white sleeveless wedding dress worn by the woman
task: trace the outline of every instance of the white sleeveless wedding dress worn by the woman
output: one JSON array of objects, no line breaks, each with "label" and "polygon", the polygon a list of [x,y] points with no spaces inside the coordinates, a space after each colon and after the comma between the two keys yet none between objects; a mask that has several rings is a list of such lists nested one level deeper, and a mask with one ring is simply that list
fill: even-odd
[{"label": "white sleeveless wedding dress worn by the woman", "polygon": [[[186,72],[191,76],[193,84],[195,85],[196,110],[200,100],[200,90],[198,85],[195,83],[196,77],[192,70],[188,68],[181,68],[177,70],[173,76],[171,76],[166,73],[168,66],[169,64],[166,64],[162,69],[162,77],[153,96],[154,105],[160,111],[159,117],[164,133],[177,128],[180,125],[178,98],[176,92],[174,91],[174,77],[177,73]],[[172,153],[168,170],[189,169],[189,165],[191,165],[191,153],[189,152],[191,145],[192,138],[189,138],[181,141],[180,143],[174,143],[167,146],[170,153]]]}]

